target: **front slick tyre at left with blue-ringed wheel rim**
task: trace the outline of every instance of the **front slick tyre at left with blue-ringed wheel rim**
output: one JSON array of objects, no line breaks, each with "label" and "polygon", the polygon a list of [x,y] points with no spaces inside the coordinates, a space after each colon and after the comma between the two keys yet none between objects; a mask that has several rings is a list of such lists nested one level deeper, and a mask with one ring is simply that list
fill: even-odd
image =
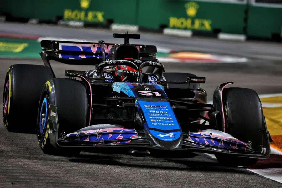
[{"label": "front slick tyre at left with blue-ringed wheel rim", "polygon": [[86,87],[81,81],[53,78],[46,82],[39,102],[37,117],[37,138],[40,148],[45,154],[51,155],[78,155],[79,150],[58,149],[50,140],[50,105],[58,109],[58,130],[60,137],[62,132],[71,133],[86,126],[88,99]]}]

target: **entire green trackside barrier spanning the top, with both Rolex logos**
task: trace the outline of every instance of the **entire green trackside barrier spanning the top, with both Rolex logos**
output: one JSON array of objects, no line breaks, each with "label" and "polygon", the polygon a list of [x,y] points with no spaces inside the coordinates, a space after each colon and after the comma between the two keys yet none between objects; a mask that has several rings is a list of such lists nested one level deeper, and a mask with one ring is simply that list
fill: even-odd
[{"label": "entire green trackside barrier spanning the top, with both Rolex logos", "polygon": [[[7,18],[83,26],[102,24],[119,30],[175,29],[204,34],[282,37],[282,4],[257,0],[2,0]],[[259,0],[262,2],[263,0]],[[267,0],[267,2],[272,0]],[[8,19],[9,20],[9,19]],[[33,22],[36,22],[34,21]],[[122,25],[121,25],[122,24]],[[130,26],[131,25],[131,26]],[[181,31],[178,31],[181,33]],[[187,32],[185,32],[186,34]]]}]

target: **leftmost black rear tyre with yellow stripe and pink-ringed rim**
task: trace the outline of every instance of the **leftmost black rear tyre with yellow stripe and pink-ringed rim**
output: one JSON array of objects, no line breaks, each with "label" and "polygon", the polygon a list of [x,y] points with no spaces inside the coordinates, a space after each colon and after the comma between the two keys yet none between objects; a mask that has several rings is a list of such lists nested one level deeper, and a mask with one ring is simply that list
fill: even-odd
[{"label": "leftmost black rear tyre with yellow stripe and pink-ringed rim", "polygon": [[12,65],[6,74],[3,90],[3,121],[13,132],[36,132],[40,93],[45,82],[53,77],[49,67]]}]

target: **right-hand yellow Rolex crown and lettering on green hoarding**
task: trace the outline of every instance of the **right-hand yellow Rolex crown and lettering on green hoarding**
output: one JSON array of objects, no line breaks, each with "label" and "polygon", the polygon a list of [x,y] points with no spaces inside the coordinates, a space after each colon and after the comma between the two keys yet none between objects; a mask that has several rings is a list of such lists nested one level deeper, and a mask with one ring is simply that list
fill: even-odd
[{"label": "right-hand yellow Rolex crown and lettering on green hoarding", "polygon": [[170,17],[169,18],[169,27],[170,28],[178,28],[178,29],[194,29],[194,30],[202,30],[202,31],[211,31],[212,21],[208,19],[198,19],[194,18],[197,14],[200,6],[193,1],[190,1],[184,5],[186,9],[186,14],[190,18],[177,18]]}]

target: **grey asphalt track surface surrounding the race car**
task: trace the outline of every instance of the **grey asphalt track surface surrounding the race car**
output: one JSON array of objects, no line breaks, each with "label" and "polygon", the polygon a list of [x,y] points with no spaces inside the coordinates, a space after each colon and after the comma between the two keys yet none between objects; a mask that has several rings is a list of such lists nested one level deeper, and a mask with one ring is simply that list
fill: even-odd
[{"label": "grey asphalt track surface surrounding the race car", "polygon": [[[65,38],[112,39],[112,31],[72,29],[0,23],[0,32],[55,36]],[[110,40],[107,40],[109,38]],[[133,43],[133,42],[131,42]],[[206,38],[175,38],[159,34],[143,34],[141,42],[169,47],[173,50],[193,50],[247,57],[246,63],[165,63],[167,71],[191,72],[206,76],[209,99],[215,87],[234,81],[235,87],[255,89],[259,94],[282,91],[281,44],[261,42],[226,42]],[[40,51],[40,49],[38,49]],[[0,83],[4,83],[8,67],[16,63],[43,65],[41,60],[0,60]],[[66,66],[53,63],[55,74],[63,76],[65,69],[88,70],[87,66]],[[2,98],[3,87],[0,87]],[[28,110],[26,112],[28,115]],[[24,122],[23,126],[30,126]],[[79,157],[45,155],[37,145],[35,134],[10,133],[0,121],[0,187],[282,187],[275,181],[245,169],[220,166],[205,154],[187,154],[186,158],[166,156],[132,156],[82,152]]]}]

